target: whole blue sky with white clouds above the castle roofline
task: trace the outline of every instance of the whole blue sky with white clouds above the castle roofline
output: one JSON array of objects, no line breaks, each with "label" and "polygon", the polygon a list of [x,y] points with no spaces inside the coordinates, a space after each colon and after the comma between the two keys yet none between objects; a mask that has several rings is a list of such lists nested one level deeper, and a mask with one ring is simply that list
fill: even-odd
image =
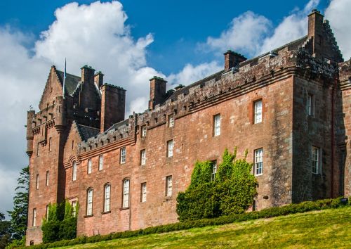
[{"label": "whole blue sky with white clouds above the castle roofline", "polygon": [[18,172],[28,164],[25,122],[38,110],[51,65],[82,65],[124,87],[126,115],[147,108],[149,80],[168,88],[223,68],[223,52],[258,56],[307,34],[307,14],[329,19],[351,57],[351,0],[0,1],[0,212],[11,210]]}]

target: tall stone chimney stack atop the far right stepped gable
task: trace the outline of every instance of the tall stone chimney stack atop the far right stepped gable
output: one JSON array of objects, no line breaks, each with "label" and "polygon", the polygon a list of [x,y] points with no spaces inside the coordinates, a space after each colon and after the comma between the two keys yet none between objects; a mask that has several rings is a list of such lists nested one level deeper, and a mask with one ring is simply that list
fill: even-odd
[{"label": "tall stone chimney stack atop the far right stepped gable", "polygon": [[321,53],[323,50],[323,18],[324,15],[317,11],[312,10],[308,15],[308,38],[312,38],[312,54]]}]

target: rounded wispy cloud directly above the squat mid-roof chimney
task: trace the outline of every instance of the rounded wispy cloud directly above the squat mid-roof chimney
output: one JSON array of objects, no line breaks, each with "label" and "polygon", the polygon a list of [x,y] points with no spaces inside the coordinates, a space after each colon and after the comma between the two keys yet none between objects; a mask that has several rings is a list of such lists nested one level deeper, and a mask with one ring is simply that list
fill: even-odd
[{"label": "rounded wispy cloud directly above the squat mid-roof chimney", "polygon": [[208,37],[206,44],[220,53],[228,49],[254,54],[260,49],[260,41],[269,32],[272,23],[263,15],[252,11],[239,15],[230,23],[230,27],[219,38]]}]

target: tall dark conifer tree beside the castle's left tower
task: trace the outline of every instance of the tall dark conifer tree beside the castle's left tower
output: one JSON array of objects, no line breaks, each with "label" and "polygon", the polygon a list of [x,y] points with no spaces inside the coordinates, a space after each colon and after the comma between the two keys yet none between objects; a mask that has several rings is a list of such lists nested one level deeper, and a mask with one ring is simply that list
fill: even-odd
[{"label": "tall dark conifer tree beside the castle's left tower", "polygon": [[24,167],[20,171],[17,179],[18,186],[15,188],[13,197],[13,211],[8,211],[11,215],[11,227],[13,238],[20,240],[25,236],[28,220],[28,193],[29,193],[29,167]]}]

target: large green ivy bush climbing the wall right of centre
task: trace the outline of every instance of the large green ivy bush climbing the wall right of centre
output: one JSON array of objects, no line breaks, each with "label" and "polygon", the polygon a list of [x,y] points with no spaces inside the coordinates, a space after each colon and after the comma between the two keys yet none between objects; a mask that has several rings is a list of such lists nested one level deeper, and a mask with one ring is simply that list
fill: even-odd
[{"label": "large green ivy bush climbing the wall right of centre", "polygon": [[252,164],[236,159],[225,149],[215,181],[211,181],[213,162],[196,162],[191,183],[177,197],[177,213],[181,222],[193,219],[219,217],[245,212],[256,196],[257,181],[251,174]]}]

